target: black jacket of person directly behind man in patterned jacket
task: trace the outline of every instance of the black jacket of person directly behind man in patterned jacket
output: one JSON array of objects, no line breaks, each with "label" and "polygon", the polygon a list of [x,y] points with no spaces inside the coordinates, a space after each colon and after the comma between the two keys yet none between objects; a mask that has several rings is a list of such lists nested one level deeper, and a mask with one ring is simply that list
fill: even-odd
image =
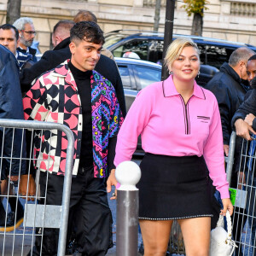
[{"label": "black jacket of person directly behind man in patterned jacket", "polygon": [[[71,58],[69,44],[70,38],[66,38],[60,44],[58,44],[55,49],[46,51],[41,60],[35,63],[32,67],[22,70],[20,73],[20,86],[22,92],[26,92],[30,89],[34,79],[37,79],[43,73],[57,67],[63,61]],[[95,70],[98,73],[101,73],[102,76],[113,84],[119,100],[121,111],[125,117],[125,94],[122,80],[119,75],[119,70],[115,62],[108,57],[101,55],[100,60],[96,64]]]}]

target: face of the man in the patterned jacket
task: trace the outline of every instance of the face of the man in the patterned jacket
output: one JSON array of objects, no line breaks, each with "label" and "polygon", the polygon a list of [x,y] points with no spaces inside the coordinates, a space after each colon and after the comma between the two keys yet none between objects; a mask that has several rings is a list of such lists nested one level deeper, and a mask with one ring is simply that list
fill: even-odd
[{"label": "face of the man in the patterned jacket", "polygon": [[74,67],[85,72],[96,67],[101,56],[102,44],[82,40],[71,42],[69,48],[72,53],[71,63]]}]

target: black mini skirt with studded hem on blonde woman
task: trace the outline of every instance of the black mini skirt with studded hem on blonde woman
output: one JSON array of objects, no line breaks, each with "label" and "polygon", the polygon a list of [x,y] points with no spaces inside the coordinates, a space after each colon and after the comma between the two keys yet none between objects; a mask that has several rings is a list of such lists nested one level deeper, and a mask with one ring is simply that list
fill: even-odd
[{"label": "black mini skirt with studded hem on blonde woman", "polygon": [[212,181],[203,157],[147,153],[140,167],[140,219],[212,217]]}]

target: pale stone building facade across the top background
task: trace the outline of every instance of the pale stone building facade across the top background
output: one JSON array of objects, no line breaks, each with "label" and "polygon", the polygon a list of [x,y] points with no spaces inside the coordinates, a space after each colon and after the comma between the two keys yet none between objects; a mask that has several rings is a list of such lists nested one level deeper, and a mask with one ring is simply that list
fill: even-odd
[{"label": "pale stone building facade across the top background", "polygon": [[[0,0],[0,22],[5,23],[8,0]],[[166,0],[161,0],[160,32],[164,31]],[[210,0],[204,15],[203,36],[256,45],[255,0]],[[92,11],[104,32],[118,29],[153,30],[155,0],[22,0],[21,16],[32,18],[42,52],[50,49],[53,26],[73,20],[79,9]],[[174,32],[190,34],[192,16],[176,2]]]}]

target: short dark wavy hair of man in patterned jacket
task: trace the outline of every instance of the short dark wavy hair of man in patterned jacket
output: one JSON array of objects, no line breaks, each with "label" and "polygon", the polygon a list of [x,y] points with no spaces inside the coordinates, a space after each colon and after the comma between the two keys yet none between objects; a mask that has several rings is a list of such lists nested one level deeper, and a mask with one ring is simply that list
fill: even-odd
[{"label": "short dark wavy hair of man in patterned jacket", "polygon": [[105,38],[102,29],[95,22],[80,21],[70,31],[70,41],[85,40],[94,44],[104,44]]}]

